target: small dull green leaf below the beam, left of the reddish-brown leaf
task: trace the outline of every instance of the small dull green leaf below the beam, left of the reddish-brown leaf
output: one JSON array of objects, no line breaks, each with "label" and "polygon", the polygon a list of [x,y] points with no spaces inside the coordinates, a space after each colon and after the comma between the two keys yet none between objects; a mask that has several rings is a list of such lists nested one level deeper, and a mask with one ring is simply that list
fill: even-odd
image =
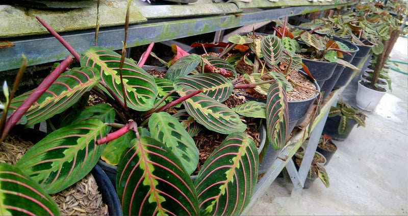
[{"label": "small dull green leaf below the beam, left of the reddish-brown leaf", "polygon": [[184,56],[170,66],[164,77],[166,79],[174,80],[179,76],[185,76],[193,71],[200,61],[201,57],[194,53]]}]

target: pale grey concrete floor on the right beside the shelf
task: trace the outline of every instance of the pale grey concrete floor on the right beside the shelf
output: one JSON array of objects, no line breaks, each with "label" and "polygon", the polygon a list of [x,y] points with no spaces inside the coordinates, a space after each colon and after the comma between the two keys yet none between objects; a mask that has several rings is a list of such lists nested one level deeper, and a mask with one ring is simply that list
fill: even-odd
[{"label": "pale grey concrete floor on the right beside the shelf", "polygon": [[[399,38],[392,60],[408,62],[406,38]],[[407,65],[400,64],[408,72]],[[407,215],[408,214],[408,75],[390,70],[393,91],[373,112],[366,112],[366,127],[354,128],[325,167],[330,178],[326,188],[319,179],[300,194],[293,185],[277,178],[265,191],[251,215]],[[347,94],[343,99],[355,104]],[[348,92],[348,93],[347,93]]]}]

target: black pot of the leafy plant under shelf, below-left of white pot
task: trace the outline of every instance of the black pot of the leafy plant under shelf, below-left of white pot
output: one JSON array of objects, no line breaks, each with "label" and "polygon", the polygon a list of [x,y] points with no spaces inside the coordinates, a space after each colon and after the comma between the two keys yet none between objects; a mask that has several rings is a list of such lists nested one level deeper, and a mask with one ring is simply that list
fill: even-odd
[{"label": "black pot of the leafy plant under shelf, below-left of white pot", "polygon": [[350,127],[348,128],[348,130],[345,131],[344,134],[339,134],[338,128],[340,124],[340,116],[329,117],[327,118],[326,123],[324,124],[322,133],[329,135],[331,139],[337,141],[344,141],[345,139],[347,139],[351,130],[357,124],[357,122],[354,119],[347,118],[347,121],[350,124]]}]

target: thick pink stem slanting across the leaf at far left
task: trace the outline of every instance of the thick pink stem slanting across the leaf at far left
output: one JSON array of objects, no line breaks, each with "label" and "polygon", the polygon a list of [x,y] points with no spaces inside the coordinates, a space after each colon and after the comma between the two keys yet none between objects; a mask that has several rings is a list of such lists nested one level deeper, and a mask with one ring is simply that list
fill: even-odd
[{"label": "thick pink stem slanting across the leaf at far left", "polygon": [[54,81],[60,76],[62,72],[65,71],[65,68],[68,67],[72,62],[72,57],[68,56],[64,61],[61,62],[58,67],[54,69],[34,90],[34,92],[24,100],[24,102],[17,108],[17,110],[10,116],[7,120],[6,125],[4,126],[4,131],[2,134],[2,140],[6,137],[7,133],[14,127],[14,125],[21,119],[21,117],[29,110],[31,105],[51,86]]}]

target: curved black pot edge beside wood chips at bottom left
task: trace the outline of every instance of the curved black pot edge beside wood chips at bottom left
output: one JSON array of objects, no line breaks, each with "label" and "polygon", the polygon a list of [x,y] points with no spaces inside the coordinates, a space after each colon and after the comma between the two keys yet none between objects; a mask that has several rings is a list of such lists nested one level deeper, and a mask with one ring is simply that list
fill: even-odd
[{"label": "curved black pot edge beside wood chips at bottom left", "polygon": [[102,195],[102,200],[108,206],[109,215],[123,215],[122,207],[120,206],[119,198],[116,194],[115,187],[108,178],[102,168],[96,165],[91,171],[95,178],[98,190]]}]

